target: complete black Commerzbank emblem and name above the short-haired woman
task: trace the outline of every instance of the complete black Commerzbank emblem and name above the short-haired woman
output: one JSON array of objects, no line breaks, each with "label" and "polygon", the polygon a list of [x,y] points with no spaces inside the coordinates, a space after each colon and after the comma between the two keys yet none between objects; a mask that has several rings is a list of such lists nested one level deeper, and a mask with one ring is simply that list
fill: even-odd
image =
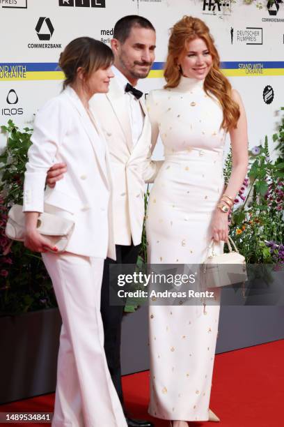
[{"label": "complete black Commerzbank emblem and name above the short-haired woman", "polygon": [[[41,16],[35,27],[40,42],[50,41],[54,36],[54,24],[49,17]],[[29,49],[62,49],[61,43],[29,43]]]}]

